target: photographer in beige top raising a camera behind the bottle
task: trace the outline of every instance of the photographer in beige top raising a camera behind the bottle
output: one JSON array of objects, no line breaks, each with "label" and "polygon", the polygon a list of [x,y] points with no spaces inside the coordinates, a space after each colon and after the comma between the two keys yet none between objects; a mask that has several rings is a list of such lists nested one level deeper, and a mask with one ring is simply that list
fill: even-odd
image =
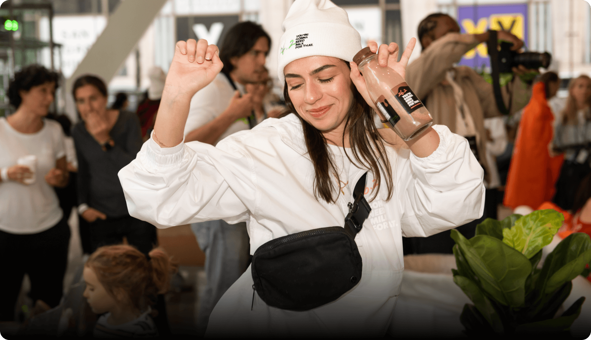
[{"label": "photographer in beige top raising a camera behind the bottle", "polygon": [[[499,40],[513,44],[511,47],[513,51],[519,50],[524,44],[509,32],[498,31],[497,34]],[[421,21],[418,27],[418,38],[423,51],[418,59],[408,65],[406,74],[408,85],[415,89],[418,98],[427,106],[433,116],[433,124],[446,125],[452,132],[465,137],[476,159],[485,169],[488,188],[485,213],[481,219],[458,228],[469,238],[474,235],[476,224],[482,219],[496,218],[496,187],[500,182],[494,157],[487,153],[492,150],[493,144],[506,141],[506,132],[491,84],[470,67],[454,66],[454,63],[459,62],[467,51],[488,41],[489,32],[460,34],[460,27],[452,17],[436,13],[428,15]],[[528,70],[519,66],[514,67],[513,72],[521,75]],[[519,77],[514,78],[515,82],[521,81]],[[505,95],[510,91],[513,92],[511,105],[509,105],[510,112],[515,112],[527,104],[528,98],[524,98],[527,92],[526,86],[512,84],[511,88],[505,87],[503,90]],[[509,98],[504,99],[505,105],[508,105]],[[490,145],[491,150],[487,150],[487,144]],[[404,245],[405,254],[451,253],[453,241],[450,238],[450,232],[446,231],[428,238],[405,239]]]}]

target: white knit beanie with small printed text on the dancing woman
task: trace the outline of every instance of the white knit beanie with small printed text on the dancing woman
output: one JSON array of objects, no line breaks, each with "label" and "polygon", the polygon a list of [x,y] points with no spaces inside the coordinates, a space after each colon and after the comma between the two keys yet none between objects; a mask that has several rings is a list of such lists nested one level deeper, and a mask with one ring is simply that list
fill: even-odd
[{"label": "white knit beanie with small printed text on the dancing woman", "polygon": [[352,61],[361,50],[359,32],[349,23],[345,9],[330,0],[296,0],[282,25],[277,75],[285,80],[283,69],[291,61],[326,56]]}]

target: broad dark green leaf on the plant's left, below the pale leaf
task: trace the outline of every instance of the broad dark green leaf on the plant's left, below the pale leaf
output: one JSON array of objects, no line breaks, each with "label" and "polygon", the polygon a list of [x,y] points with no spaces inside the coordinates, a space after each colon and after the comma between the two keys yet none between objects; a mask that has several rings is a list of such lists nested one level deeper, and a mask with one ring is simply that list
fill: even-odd
[{"label": "broad dark green leaf on the plant's left, below the pale leaf", "polygon": [[486,293],[502,305],[524,304],[525,280],[531,273],[531,263],[524,255],[488,235],[468,240],[452,229],[452,238]]}]

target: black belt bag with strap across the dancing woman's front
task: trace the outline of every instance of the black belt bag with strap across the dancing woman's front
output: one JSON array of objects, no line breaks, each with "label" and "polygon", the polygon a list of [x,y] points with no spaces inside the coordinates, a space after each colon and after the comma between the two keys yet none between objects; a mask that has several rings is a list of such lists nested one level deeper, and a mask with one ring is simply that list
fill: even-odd
[{"label": "black belt bag with strap across the dancing woman's front", "polygon": [[338,299],[361,280],[362,261],[355,236],[371,212],[363,197],[366,176],[355,185],[345,228],[298,232],[272,239],[255,251],[252,287],[267,305],[313,309]]}]

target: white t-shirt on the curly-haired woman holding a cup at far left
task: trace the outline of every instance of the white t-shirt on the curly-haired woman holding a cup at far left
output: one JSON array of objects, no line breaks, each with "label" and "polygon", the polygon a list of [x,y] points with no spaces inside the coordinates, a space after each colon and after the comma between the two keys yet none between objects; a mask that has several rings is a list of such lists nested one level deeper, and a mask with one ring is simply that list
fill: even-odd
[{"label": "white t-shirt on the curly-haired woman holding a cup at far left", "polygon": [[0,168],[17,164],[19,157],[37,156],[35,183],[0,182],[0,230],[11,234],[35,234],[51,228],[63,213],[45,175],[66,155],[64,134],[58,122],[43,119],[43,128],[22,134],[0,118]]}]

